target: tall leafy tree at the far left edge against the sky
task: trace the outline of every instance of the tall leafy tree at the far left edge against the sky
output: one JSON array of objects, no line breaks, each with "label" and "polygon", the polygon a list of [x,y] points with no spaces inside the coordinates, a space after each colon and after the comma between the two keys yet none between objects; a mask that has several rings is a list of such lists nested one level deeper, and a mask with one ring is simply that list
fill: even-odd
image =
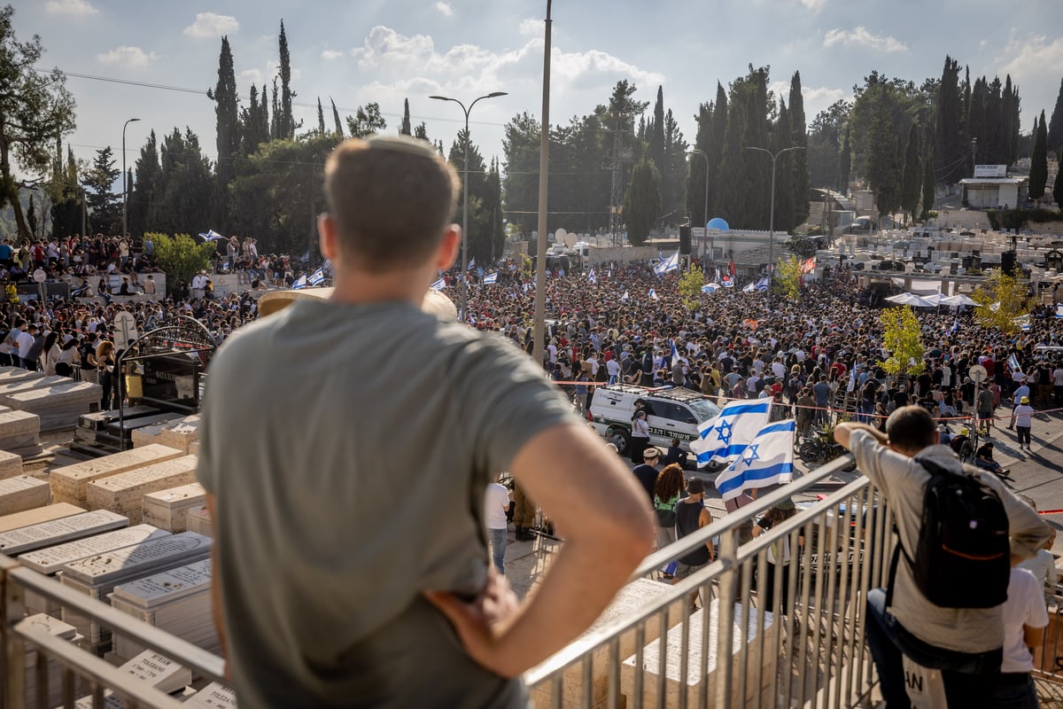
[{"label": "tall leafy tree at the far left edge against the sky", "polygon": [[50,179],[53,141],[74,129],[74,101],[62,71],[37,71],[40,37],[19,41],[14,15],[0,10],[0,207],[11,206],[18,235],[29,237],[19,192]]}]

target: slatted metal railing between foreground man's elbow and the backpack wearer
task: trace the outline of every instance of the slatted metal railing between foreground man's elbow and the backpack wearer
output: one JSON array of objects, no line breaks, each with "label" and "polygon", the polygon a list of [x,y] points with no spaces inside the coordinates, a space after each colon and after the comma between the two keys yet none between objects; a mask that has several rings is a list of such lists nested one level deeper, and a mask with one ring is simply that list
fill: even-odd
[{"label": "slatted metal railing between foreground man's elbow and the backpack wearer", "polygon": [[[850,460],[647,557],[621,593],[625,612],[610,619],[607,610],[607,620],[525,675],[537,709],[874,706],[864,598],[884,585],[893,533],[871,480],[802,505],[756,539],[747,534],[753,517],[814,490]],[[716,559],[705,568],[672,585],[643,580],[713,538]],[[772,564],[769,551],[784,559],[787,545],[789,563]]]}]

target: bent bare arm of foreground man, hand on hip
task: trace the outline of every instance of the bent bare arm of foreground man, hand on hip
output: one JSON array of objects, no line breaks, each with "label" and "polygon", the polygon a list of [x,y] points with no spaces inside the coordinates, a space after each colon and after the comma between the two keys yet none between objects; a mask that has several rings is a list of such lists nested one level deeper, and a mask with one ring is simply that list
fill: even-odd
[{"label": "bent bare arm of foreground man, hand on hip", "polygon": [[537,434],[510,471],[564,535],[542,584],[511,617],[493,625],[473,604],[449,593],[428,594],[469,655],[505,677],[535,666],[590,626],[649,553],[655,531],[635,476],[584,425]]}]

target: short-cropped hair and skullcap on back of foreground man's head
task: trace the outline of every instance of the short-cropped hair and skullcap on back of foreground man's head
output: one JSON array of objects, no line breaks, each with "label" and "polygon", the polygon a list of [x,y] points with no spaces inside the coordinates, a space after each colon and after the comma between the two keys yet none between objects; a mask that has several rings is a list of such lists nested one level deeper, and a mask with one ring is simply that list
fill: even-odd
[{"label": "short-cropped hair and skullcap on back of foreground man's head", "polygon": [[339,249],[361,268],[387,271],[432,257],[453,219],[460,183],[426,141],[378,136],[337,146],[324,187]]}]

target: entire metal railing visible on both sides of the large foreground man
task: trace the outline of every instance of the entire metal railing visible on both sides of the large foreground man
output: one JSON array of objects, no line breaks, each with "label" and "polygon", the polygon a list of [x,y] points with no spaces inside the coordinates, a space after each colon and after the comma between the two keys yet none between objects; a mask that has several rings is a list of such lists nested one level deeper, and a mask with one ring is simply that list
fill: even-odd
[{"label": "entire metal railing visible on both sides of the large foreground man", "polygon": [[[864,597],[883,585],[892,550],[887,508],[874,486],[860,477],[756,539],[747,534],[755,516],[790,495],[814,492],[849,459],[647,557],[621,593],[626,606],[614,604],[612,614],[526,673],[536,707],[871,706],[875,675],[863,642]],[[674,584],[658,580],[670,561],[714,538],[714,561]],[[773,568],[769,551],[781,560],[788,545],[789,563]],[[55,706],[49,704],[53,692],[43,688],[56,685],[67,707],[81,696],[102,707],[106,694],[124,707],[180,706],[28,622],[28,593],[157,652],[195,677],[223,681],[221,658],[3,556],[0,592],[0,709]],[[695,597],[701,608],[692,609]],[[35,662],[28,673],[30,649]]]}]

